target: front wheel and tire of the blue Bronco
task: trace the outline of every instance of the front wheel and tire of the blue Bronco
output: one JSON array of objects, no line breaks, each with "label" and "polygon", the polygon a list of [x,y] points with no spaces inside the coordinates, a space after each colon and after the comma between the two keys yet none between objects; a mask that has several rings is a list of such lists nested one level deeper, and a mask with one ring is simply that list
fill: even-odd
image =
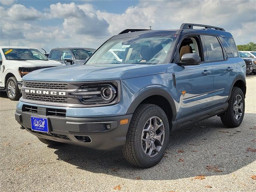
[{"label": "front wheel and tire of the blue Bronco", "polygon": [[[155,124],[154,122],[157,122],[157,125],[162,124],[162,126],[159,128],[156,126],[154,132],[151,133],[153,128],[150,128],[149,125]],[[149,131],[146,131],[145,128],[149,128]],[[126,143],[122,147],[123,155],[134,166],[141,168],[155,166],[164,156],[169,142],[169,134],[168,118],[162,108],[152,104],[140,104],[132,116],[126,135]],[[149,149],[148,146],[150,146]],[[153,146],[156,147],[155,150],[152,150]]]}]

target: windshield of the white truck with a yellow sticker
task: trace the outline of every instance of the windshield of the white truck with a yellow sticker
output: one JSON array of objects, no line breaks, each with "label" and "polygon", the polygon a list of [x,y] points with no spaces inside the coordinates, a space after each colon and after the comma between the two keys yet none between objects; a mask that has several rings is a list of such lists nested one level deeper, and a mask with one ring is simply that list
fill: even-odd
[{"label": "windshield of the white truck with a yellow sticker", "polygon": [[48,60],[47,57],[37,49],[2,49],[6,60]]}]

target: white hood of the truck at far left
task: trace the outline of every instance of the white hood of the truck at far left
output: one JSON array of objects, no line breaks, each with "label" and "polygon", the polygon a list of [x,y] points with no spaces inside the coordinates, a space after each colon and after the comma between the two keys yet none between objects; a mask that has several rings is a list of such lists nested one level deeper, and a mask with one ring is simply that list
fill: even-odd
[{"label": "white hood of the truck at far left", "polygon": [[10,64],[20,65],[22,67],[56,67],[56,66],[63,66],[61,62],[57,62],[54,60],[26,60],[26,61],[18,61],[18,60],[8,60]]}]

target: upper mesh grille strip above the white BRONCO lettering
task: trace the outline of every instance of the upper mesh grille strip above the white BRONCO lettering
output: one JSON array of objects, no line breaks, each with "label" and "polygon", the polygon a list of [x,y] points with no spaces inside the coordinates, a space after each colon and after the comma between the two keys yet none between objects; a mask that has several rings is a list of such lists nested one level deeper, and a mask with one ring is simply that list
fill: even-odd
[{"label": "upper mesh grille strip above the white BRONCO lettering", "polygon": [[55,90],[67,90],[68,84],[66,83],[47,83],[47,82],[25,82],[26,87],[40,88],[40,89],[55,89]]}]

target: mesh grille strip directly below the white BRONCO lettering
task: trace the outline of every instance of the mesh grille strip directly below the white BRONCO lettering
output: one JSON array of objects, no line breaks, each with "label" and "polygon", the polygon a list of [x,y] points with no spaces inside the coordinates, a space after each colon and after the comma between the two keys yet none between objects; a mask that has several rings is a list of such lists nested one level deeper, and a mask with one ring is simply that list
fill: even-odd
[{"label": "mesh grille strip directly below the white BRONCO lettering", "polygon": [[44,102],[67,103],[67,97],[26,94],[26,99]]}]

